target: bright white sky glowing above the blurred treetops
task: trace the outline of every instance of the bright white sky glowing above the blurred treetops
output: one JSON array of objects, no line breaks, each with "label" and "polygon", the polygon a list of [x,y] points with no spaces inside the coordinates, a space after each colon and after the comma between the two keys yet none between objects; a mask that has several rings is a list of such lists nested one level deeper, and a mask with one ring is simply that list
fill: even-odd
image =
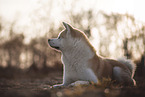
[{"label": "bright white sky glowing above the blurred treetops", "polygon": [[[38,2],[47,0],[0,0],[0,15],[13,20],[16,15],[27,15],[38,6]],[[55,2],[67,0],[53,0]],[[71,0],[68,0],[68,2]],[[76,0],[83,8],[94,8],[105,12],[129,13],[137,20],[145,22],[145,0]],[[78,8],[79,9],[79,8]]]}]

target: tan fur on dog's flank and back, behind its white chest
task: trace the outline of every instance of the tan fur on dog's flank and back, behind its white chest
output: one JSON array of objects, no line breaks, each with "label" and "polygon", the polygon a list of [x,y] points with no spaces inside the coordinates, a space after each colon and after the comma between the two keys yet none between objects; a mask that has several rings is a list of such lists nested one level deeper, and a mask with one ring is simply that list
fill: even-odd
[{"label": "tan fur on dog's flank and back, behind its white chest", "polygon": [[105,59],[97,55],[94,55],[94,57],[89,60],[89,63],[90,67],[93,69],[99,80],[102,80],[103,78],[113,79],[112,72],[113,67],[115,66],[120,67],[124,70],[128,70],[128,68],[124,64],[116,60]]}]

